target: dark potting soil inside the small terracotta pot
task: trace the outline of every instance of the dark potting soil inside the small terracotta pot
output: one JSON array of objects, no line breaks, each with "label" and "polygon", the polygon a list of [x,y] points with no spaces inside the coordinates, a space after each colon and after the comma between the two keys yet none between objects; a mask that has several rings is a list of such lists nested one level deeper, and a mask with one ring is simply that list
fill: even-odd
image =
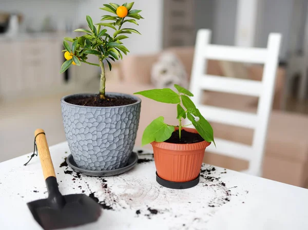
[{"label": "dark potting soil inside the small terracotta pot", "polygon": [[192,144],[204,141],[199,133],[187,132],[186,130],[181,131],[181,140],[179,138],[179,130],[172,132],[171,137],[165,142],[174,144]]}]

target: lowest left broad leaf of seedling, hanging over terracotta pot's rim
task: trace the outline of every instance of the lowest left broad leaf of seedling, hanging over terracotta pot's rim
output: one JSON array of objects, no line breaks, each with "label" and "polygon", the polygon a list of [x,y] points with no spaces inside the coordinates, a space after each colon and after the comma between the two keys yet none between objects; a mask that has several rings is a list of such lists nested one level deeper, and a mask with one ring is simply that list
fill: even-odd
[{"label": "lowest left broad leaf of seedling, hanging over terracotta pot's rim", "polygon": [[164,123],[164,118],[159,117],[153,120],[145,129],[142,135],[142,145],[149,144],[153,141],[163,142],[168,140],[172,132],[175,131],[174,126],[169,126]]}]

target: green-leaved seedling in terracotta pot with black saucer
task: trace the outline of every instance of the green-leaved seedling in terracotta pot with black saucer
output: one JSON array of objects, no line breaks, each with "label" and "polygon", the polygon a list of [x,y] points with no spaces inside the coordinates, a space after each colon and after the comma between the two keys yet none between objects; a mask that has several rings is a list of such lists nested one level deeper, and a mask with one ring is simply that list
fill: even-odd
[{"label": "green-leaved seedling in terracotta pot with black saucer", "polygon": [[[188,188],[199,183],[205,148],[215,142],[213,128],[189,98],[194,95],[179,85],[175,88],[178,92],[165,88],[134,94],[177,104],[179,124],[166,124],[163,117],[153,120],[143,132],[142,145],[150,143],[153,147],[158,183],[170,188]],[[186,118],[191,123],[182,125],[182,119]],[[196,129],[188,128],[190,125]]]}]

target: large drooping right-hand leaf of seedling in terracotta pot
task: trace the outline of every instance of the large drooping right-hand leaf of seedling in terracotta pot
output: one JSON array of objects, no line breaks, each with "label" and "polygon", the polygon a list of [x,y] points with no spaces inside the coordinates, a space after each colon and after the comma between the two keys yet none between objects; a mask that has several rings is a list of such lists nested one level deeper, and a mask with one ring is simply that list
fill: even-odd
[{"label": "large drooping right-hand leaf of seedling in terracotta pot", "polygon": [[[197,116],[195,117],[198,117],[199,120],[195,119],[195,117],[192,116],[193,114],[191,113],[191,110],[195,110],[194,113],[197,114]],[[200,111],[198,109],[190,109],[190,111],[187,111],[187,118],[189,121],[191,121],[192,125],[195,126],[200,136],[207,142],[213,142],[216,147],[213,128],[208,123],[208,121],[201,115]]]}]

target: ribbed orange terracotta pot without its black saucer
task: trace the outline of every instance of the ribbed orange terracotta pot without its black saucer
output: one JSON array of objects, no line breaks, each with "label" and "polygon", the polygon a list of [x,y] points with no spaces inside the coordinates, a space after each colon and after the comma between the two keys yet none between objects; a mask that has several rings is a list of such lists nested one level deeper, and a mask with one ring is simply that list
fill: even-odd
[{"label": "ribbed orange terracotta pot without its black saucer", "polygon": [[[197,133],[193,128],[183,129]],[[186,182],[198,177],[205,148],[210,143],[206,141],[194,144],[152,142],[151,145],[158,176],[167,181]]]}]

